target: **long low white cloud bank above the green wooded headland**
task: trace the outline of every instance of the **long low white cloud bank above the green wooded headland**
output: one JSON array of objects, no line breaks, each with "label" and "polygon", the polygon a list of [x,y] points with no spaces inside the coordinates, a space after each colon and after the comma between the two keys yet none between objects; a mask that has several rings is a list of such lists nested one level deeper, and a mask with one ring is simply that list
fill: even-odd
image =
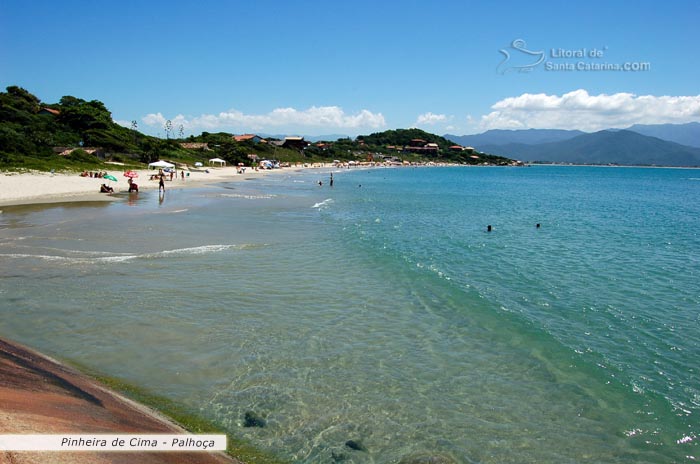
[{"label": "long low white cloud bank above the green wooded headland", "polygon": [[[162,113],[147,114],[142,118],[148,126],[162,127],[167,118]],[[284,130],[286,128],[359,129],[386,126],[381,113],[362,110],[346,114],[338,106],[312,106],[306,110],[276,108],[264,114],[245,114],[232,109],[219,114],[203,114],[186,118],[179,114],[171,118],[173,126],[182,124],[188,130]]]}]

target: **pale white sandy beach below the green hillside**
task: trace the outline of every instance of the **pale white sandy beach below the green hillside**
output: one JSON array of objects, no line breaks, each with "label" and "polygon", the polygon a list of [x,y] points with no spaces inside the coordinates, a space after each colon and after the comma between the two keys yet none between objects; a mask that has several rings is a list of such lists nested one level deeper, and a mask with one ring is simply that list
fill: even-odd
[{"label": "pale white sandy beach below the green hillside", "polygon": [[[206,170],[205,170],[206,169]],[[238,174],[235,167],[202,168],[200,170],[185,171],[185,179],[178,176],[170,181],[166,176],[165,188],[186,188],[201,186],[205,183],[245,180],[280,172],[298,170],[299,167],[259,170],[247,168],[245,173]],[[208,171],[208,172],[207,172]],[[139,176],[134,179],[139,190],[153,190],[158,188],[157,180],[149,180],[151,175],[158,171],[141,169],[136,171]],[[129,184],[124,177],[124,169],[115,166],[115,169],[107,171],[118,180],[108,181],[102,178],[81,177],[77,173],[0,173],[0,206],[58,203],[68,201],[110,201],[116,198],[110,194],[99,193],[100,185],[105,183],[114,189],[114,193],[128,192]]]}]

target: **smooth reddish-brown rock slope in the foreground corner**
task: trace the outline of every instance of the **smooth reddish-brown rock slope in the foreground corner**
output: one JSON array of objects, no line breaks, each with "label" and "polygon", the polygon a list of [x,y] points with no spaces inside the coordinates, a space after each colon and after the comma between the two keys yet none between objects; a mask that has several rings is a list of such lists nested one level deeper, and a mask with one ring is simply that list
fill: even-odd
[{"label": "smooth reddish-brown rock slope in the foreground corner", "polygon": [[[20,343],[0,337],[0,433],[189,433],[163,413]],[[17,464],[240,464],[223,452],[0,451]]]}]

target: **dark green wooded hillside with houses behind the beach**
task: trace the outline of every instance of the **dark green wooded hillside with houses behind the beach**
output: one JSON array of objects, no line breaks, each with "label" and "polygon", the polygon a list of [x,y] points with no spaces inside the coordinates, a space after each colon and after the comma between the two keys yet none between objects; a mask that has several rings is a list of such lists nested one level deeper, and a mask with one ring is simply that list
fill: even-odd
[{"label": "dark green wooded hillside with houses behind the beach", "polygon": [[[460,164],[509,164],[511,160],[487,154],[455,151],[449,140],[420,129],[396,129],[338,140],[285,144],[255,136],[237,141],[226,132],[202,132],[173,138],[172,123],[164,126],[166,138],[117,124],[99,100],[72,95],[58,103],[42,102],[26,89],[9,86],[0,92],[0,170],[83,171],[108,169],[118,161],[127,168],[168,160],[194,165],[222,158],[229,165],[251,165],[253,160],[280,163],[328,163],[342,161],[426,162]],[[80,149],[81,151],[77,151]]]}]

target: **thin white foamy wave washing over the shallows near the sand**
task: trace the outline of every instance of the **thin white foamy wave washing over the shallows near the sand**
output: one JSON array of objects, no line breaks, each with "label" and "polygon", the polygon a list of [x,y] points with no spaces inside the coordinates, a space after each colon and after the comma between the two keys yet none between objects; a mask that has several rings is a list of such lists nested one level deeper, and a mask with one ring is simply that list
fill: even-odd
[{"label": "thin white foamy wave washing over the shallows near the sand", "polygon": [[[62,262],[66,264],[98,264],[98,263],[124,263],[134,260],[153,260],[177,256],[192,256],[238,249],[251,249],[262,245],[202,245],[197,247],[176,248],[153,253],[108,253],[102,251],[60,250],[64,255],[46,255],[32,253],[0,253],[1,258],[14,259],[38,259],[42,261]],[[66,256],[68,254],[69,256]],[[86,255],[86,256],[70,256]],[[106,255],[106,256],[105,256]]]}]

